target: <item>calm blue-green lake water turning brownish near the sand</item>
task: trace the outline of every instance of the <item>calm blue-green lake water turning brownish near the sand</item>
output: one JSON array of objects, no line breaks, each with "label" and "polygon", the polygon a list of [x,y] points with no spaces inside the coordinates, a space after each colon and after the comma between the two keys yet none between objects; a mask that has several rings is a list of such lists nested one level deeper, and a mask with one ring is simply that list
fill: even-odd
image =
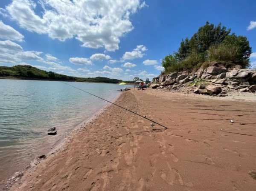
[{"label": "calm blue-green lake water turning brownish near the sand", "polygon": [[[107,100],[117,84],[67,82]],[[103,106],[103,100],[56,81],[0,79],[0,182],[47,151]],[[55,126],[58,134],[47,135]]]}]

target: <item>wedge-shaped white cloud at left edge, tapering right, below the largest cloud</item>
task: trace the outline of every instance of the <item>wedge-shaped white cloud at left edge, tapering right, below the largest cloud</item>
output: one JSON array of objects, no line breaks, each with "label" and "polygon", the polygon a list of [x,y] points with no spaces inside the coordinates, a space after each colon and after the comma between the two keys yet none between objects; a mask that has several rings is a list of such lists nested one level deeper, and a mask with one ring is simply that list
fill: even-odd
[{"label": "wedge-shaped white cloud at left edge, tapering right, below the largest cloud", "polygon": [[4,40],[23,41],[24,36],[0,20],[0,38]]}]

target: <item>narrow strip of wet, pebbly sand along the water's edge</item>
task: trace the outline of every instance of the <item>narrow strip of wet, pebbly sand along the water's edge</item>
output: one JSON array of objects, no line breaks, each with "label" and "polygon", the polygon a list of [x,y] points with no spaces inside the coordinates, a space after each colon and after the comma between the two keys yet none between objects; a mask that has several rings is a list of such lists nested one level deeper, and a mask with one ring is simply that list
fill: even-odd
[{"label": "narrow strip of wet, pebbly sand along the water's edge", "polygon": [[[117,94],[116,97],[114,97],[113,100],[110,100],[110,101],[114,103],[120,97],[120,95],[121,95],[121,93]],[[81,128],[83,128],[85,125],[87,125],[91,121],[96,120],[97,117],[99,117],[99,115],[102,114],[105,111],[105,109],[107,109],[110,105],[111,105],[111,103],[107,103],[105,106],[100,108],[99,111],[96,111],[95,114],[93,114],[92,116],[88,117],[86,120],[82,121],[78,125],[75,125],[74,128],[69,133],[63,135],[63,139],[62,140],[61,139],[57,140],[57,142],[52,145],[51,149],[46,154],[44,154],[44,155],[46,157],[48,157],[48,156],[50,156],[52,154],[57,154],[59,151],[61,151],[61,149],[67,143],[69,143],[70,139],[72,139],[74,134],[79,133]],[[45,158],[40,159],[39,156],[38,156],[38,157],[35,157],[34,159],[30,160],[30,162],[25,164],[22,169],[20,169],[19,171],[15,172],[10,177],[7,177],[7,179],[6,179],[7,182],[4,184],[3,189],[4,190],[9,190],[9,188],[11,188],[13,184],[19,182],[20,177],[22,177],[23,174],[26,173],[26,171],[31,170],[31,168],[35,167],[40,162],[44,162],[44,159]]]}]

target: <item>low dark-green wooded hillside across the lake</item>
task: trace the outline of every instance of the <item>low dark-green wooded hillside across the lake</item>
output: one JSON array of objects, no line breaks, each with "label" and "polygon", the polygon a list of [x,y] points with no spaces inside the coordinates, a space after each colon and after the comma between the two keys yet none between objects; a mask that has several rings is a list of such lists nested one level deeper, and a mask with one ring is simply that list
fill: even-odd
[{"label": "low dark-green wooded hillside across the lake", "polygon": [[52,71],[44,71],[33,66],[17,65],[12,67],[0,66],[0,78],[16,78],[27,80],[60,80],[76,82],[102,82],[119,83],[122,80],[111,79],[108,77],[72,77],[63,74],[57,74]]}]

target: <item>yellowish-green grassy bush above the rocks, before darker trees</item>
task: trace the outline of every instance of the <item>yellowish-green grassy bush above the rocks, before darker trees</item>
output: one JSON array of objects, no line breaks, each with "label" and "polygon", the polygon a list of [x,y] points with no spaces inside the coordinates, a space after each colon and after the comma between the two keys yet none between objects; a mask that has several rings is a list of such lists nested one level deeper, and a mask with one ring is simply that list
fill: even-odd
[{"label": "yellowish-green grassy bush above the rocks, before darker trees", "polygon": [[220,44],[211,46],[207,50],[207,60],[209,61],[232,61],[237,62],[239,57],[239,47]]}]

